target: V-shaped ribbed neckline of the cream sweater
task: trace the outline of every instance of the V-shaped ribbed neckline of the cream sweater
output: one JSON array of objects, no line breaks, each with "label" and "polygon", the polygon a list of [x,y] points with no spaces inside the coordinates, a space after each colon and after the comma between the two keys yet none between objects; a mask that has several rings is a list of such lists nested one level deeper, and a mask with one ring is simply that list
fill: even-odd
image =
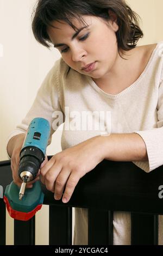
[{"label": "V-shaped ribbed neckline of the cream sweater", "polygon": [[153,52],[152,52],[152,54],[151,54],[151,57],[149,58],[148,63],[147,63],[147,65],[146,65],[145,69],[142,71],[142,73],[141,73],[141,75],[139,76],[139,78],[137,78],[137,80],[136,80],[134,83],[132,83],[130,86],[128,86],[126,89],[122,90],[121,93],[118,93],[118,94],[109,94],[109,93],[105,93],[104,90],[102,90],[101,88],[99,88],[99,87],[97,86],[97,84],[92,80],[92,78],[91,78],[90,76],[87,76],[87,78],[88,78],[88,80],[89,80],[89,84],[90,84],[91,87],[93,87],[99,94],[102,94],[102,95],[104,95],[105,97],[108,97],[108,98],[110,98],[110,99],[117,99],[118,97],[127,94],[130,90],[134,89],[134,88],[137,86],[137,84],[140,83],[140,81],[142,80],[142,78],[146,75],[146,72],[147,72],[147,70],[149,69],[149,66],[151,65],[152,60],[153,60],[153,58],[154,58],[155,51],[156,51],[156,49],[158,48],[158,46],[159,46],[160,44],[162,44],[162,43],[163,43],[163,42],[158,43],[158,44],[156,45],[156,47],[154,48],[154,50],[153,50]]}]

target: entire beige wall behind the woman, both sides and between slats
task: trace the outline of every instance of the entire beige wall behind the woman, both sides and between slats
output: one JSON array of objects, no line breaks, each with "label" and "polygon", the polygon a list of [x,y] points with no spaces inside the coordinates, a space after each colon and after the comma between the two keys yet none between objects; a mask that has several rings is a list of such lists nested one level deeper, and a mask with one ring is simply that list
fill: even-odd
[{"label": "entire beige wall behind the woman, both sides and between slats", "polygon": [[[20,123],[32,105],[37,89],[60,54],[37,44],[30,28],[30,15],[36,0],[0,0],[0,161],[7,160],[5,143],[9,133]],[[142,18],[145,37],[139,45],[163,41],[162,0],[128,0]],[[3,48],[3,49],[2,49]],[[3,54],[2,54],[3,50]],[[53,136],[47,154],[61,150],[61,131]],[[48,243],[48,207],[36,216],[36,243]],[[45,221],[40,225],[42,216]],[[13,222],[8,217],[10,230]],[[8,244],[13,234],[7,233]]]}]

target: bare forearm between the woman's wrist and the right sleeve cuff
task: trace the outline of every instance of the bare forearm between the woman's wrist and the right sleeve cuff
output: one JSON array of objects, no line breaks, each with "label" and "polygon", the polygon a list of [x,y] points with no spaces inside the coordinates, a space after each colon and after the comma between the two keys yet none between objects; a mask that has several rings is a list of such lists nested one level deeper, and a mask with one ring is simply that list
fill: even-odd
[{"label": "bare forearm between the woman's wrist and the right sleeve cuff", "polygon": [[101,136],[104,159],[110,161],[148,161],[145,142],[137,133]]}]

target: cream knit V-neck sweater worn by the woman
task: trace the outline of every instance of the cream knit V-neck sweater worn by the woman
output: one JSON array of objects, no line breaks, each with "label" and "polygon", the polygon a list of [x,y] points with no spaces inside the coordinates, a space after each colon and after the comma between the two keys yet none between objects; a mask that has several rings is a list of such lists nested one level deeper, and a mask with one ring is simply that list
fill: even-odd
[{"label": "cream knit V-neck sweater worn by the woman", "polygon": [[[33,106],[8,141],[12,136],[26,132],[33,118],[43,117],[51,124],[51,137],[58,124],[65,122],[62,150],[97,135],[136,132],[145,141],[149,161],[134,163],[145,172],[163,165],[163,42],[156,46],[140,77],[117,95],[105,93],[91,77],[72,69],[67,75],[67,70],[62,59],[55,63],[37,92]],[[99,113],[102,113],[101,119]],[[96,125],[100,120],[101,126],[98,129],[84,126],[89,120]],[[74,126],[74,123],[78,125]],[[87,243],[86,220],[87,210],[77,209],[75,243]],[[114,244],[129,243],[130,215],[115,212]]]}]

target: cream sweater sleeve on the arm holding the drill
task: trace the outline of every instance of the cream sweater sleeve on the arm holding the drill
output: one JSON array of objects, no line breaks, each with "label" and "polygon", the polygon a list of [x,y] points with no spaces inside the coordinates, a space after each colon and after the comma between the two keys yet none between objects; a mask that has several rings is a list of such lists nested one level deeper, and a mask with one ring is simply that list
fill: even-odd
[{"label": "cream sweater sleeve on the arm holding the drill", "polygon": [[[16,126],[16,129],[10,133],[7,139],[7,144],[12,137],[21,133],[26,133],[30,121],[32,121],[36,117],[45,118],[49,121],[49,124],[51,125],[51,135],[49,137],[48,145],[51,143],[52,135],[58,128],[54,127],[53,125],[53,121],[56,117],[56,112],[59,113],[58,124],[61,125],[64,122],[64,115],[61,110],[58,91],[59,69],[60,60],[55,62],[53,68],[48,72],[41,87],[37,91],[32,107],[29,109],[29,112],[27,113],[26,117],[22,120],[21,124],[18,124]],[[10,159],[9,155],[8,157]]]}]

